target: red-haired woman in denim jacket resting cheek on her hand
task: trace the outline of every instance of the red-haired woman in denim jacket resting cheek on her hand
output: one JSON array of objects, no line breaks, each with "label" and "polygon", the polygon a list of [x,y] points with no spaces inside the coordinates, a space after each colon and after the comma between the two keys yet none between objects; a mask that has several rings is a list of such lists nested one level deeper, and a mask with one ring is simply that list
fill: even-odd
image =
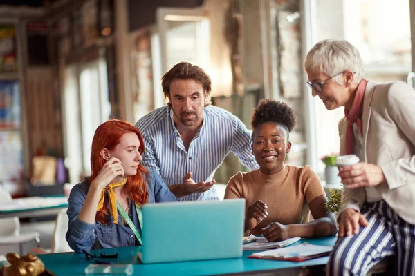
[{"label": "red-haired woman in denim jacket resting cheek on her hand", "polygon": [[142,204],[177,200],[157,173],[140,164],[142,152],[140,131],[125,121],[107,121],[95,130],[91,177],[74,186],[68,199],[66,240],[76,253],[142,244]]}]

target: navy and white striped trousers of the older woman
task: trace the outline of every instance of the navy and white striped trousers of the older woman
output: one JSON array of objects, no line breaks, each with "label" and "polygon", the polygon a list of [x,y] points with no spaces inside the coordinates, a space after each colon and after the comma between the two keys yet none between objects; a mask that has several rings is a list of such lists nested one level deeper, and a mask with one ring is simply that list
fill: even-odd
[{"label": "navy and white striped trousers of the older woman", "polygon": [[415,225],[396,215],[383,200],[365,202],[362,214],[369,226],[360,226],[358,235],[338,239],[327,274],[365,275],[381,259],[396,255],[397,275],[415,275]]}]

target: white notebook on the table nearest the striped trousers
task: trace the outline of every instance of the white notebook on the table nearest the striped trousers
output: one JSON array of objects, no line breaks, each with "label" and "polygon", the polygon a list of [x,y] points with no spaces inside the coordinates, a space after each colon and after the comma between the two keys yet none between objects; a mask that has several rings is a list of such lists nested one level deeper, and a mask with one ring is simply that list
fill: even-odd
[{"label": "white notebook on the table nearest the striped trousers", "polygon": [[304,242],[295,246],[254,253],[249,255],[248,258],[302,262],[307,259],[329,255],[331,250],[333,250],[333,246],[315,246],[314,244]]}]

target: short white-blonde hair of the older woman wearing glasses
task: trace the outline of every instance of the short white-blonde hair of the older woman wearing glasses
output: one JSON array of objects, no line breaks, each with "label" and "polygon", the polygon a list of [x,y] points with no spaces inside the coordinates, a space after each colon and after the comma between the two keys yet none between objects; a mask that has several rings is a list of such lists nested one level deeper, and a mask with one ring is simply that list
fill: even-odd
[{"label": "short white-blonde hair of the older woman wearing glasses", "polygon": [[[363,64],[360,53],[351,43],[345,40],[322,40],[308,52],[304,69],[307,72],[322,72],[329,77],[344,70],[355,72],[353,82],[359,83],[363,78]],[[333,77],[342,84],[342,75]]]}]

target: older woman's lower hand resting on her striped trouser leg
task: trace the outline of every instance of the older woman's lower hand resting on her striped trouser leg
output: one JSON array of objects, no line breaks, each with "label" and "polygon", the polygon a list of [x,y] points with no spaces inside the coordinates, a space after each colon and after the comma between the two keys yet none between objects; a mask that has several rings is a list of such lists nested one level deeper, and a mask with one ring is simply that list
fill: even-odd
[{"label": "older woman's lower hand resting on her striped trouser leg", "polygon": [[360,226],[368,226],[364,215],[354,209],[346,209],[340,214],[338,237],[356,235],[359,233]]}]

